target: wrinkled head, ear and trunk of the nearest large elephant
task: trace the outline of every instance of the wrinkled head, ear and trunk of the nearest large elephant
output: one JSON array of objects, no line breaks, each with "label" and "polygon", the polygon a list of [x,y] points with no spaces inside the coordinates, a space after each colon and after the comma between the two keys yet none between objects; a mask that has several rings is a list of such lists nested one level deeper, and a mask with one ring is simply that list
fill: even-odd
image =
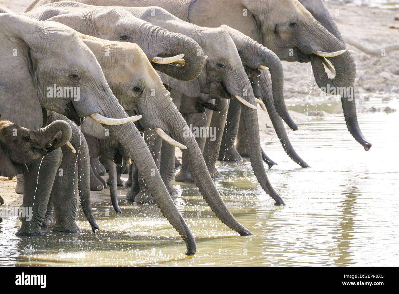
[{"label": "wrinkled head, ear and trunk of the nearest large elephant", "polygon": [[[109,88],[93,52],[71,28],[16,14],[0,14],[0,42],[0,64],[3,65],[0,71],[2,117],[33,129],[43,125],[42,108],[64,114],[78,124],[81,118],[93,113],[109,118],[127,117]],[[12,56],[15,48],[18,56]],[[15,70],[16,68],[19,70]],[[21,80],[24,80],[24,84],[20,83]],[[47,86],[54,84],[61,87],[79,86],[80,99],[47,97]],[[134,124],[130,122],[107,128],[110,137],[115,138],[125,148],[140,170],[164,216],[184,238],[186,254],[194,254],[194,237],[174,206],[154,160]],[[42,194],[41,190],[45,190],[46,185],[52,186],[56,173],[54,167],[61,163],[61,156],[61,150],[51,152],[45,158],[53,160],[52,168],[40,170],[43,174],[51,174],[53,178],[37,189],[40,204],[35,206],[35,218],[38,223],[45,217],[50,196]],[[39,166],[40,164],[32,164],[28,168],[32,168],[32,172],[38,172]],[[152,170],[155,170],[155,174]],[[33,187],[35,183],[25,178],[25,193],[29,193],[30,189],[35,190]],[[24,232],[28,232],[24,229]]]}]

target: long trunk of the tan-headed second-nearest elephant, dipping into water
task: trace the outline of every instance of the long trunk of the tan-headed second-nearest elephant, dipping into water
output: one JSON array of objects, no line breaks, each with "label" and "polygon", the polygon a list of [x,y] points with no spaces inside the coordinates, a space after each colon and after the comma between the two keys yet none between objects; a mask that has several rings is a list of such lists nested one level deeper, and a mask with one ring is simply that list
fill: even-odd
[{"label": "long trunk of the tan-headed second-nearest elephant, dipping into water", "polygon": [[201,192],[203,199],[210,206],[211,210],[216,214],[217,218],[226,226],[238,232],[241,236],[252,235],[252,233],[241,225],[229,212],[228,208],[221,199],[216,190],[215,183],[207,170],[205,160],[203,159],[201,150],[192,134],[186,121],[177,111],[176,107],[168,107],[169,113],[165,115],[168,118],[166,122],[170,134],[175,140],[184,144],[187,149],[182,150],[188,158],[190,164],[190,172],[196,185]]}]

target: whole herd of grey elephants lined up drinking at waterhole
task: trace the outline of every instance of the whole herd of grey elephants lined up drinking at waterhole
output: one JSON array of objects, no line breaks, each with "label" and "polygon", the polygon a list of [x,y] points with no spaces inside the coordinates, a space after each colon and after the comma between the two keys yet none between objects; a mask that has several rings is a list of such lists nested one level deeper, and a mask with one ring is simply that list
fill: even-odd
[{"label": "whole herd of grey elephants lined up drinking at waterhole", "polygon": [[[172,200],[172,180],[195,182],[241,236],[252,233],[215,187],[217,160],[249,157],[263,190],[285,205],[267,178],[263,162],[275,162],[261,148],[257,104],[287,155],[308,167],[284,127],[298,129],[280,60],[311,62],[324,91],[353,88],[356,77],[322,0],[35,0],[24,13],[0,6],[0,44],[0,175],[18,175],[22,206],[33,208],[17,235],[43,235],[53,210],[55,231],[79,232],[77,198],[99,230],[90,190],[107,186],[106,166],[116,213],[120,174],[128,171],[126,199],[155,202],[187,255],[196,243]],[[346,94],[346,125],[367,151],[353,91]],[[176,147],[183,155],[175,175]]]}]

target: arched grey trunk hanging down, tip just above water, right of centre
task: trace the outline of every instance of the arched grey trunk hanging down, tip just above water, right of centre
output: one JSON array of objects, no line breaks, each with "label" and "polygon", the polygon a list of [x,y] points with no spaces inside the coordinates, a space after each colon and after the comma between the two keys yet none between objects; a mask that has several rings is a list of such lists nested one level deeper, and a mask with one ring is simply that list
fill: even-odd
[{"label": "arched grey trunk hanging down, tip just above water, right of centre", "polygon": [[[253,42],[255,43],[255,41]],[[258,50],[256,56],[262,56],[262,65],[269,68],[272,80],[273,101],[277,113],[292,130],[296,131],[298,130],[298,126],[294,120],[292,120],[284,102],[284,71],[282,69],[281,61],[279,57],[268,48],[263,47],[260,44],[257,44],[256,47]]]}]

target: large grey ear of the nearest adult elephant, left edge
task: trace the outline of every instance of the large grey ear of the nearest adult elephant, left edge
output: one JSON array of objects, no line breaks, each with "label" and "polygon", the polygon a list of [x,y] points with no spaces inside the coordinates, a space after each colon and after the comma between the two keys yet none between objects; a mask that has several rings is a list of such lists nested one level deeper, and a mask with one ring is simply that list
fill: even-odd
[{"label": "large grey ear of the nearest adult elephant, left edge", "polygon": [[34,52],[22,36],[8,34],[1,25],[0,44],[1,118],[28,129],[39,129],[47,123],[47,116],[42,112],[34,84]]}]

